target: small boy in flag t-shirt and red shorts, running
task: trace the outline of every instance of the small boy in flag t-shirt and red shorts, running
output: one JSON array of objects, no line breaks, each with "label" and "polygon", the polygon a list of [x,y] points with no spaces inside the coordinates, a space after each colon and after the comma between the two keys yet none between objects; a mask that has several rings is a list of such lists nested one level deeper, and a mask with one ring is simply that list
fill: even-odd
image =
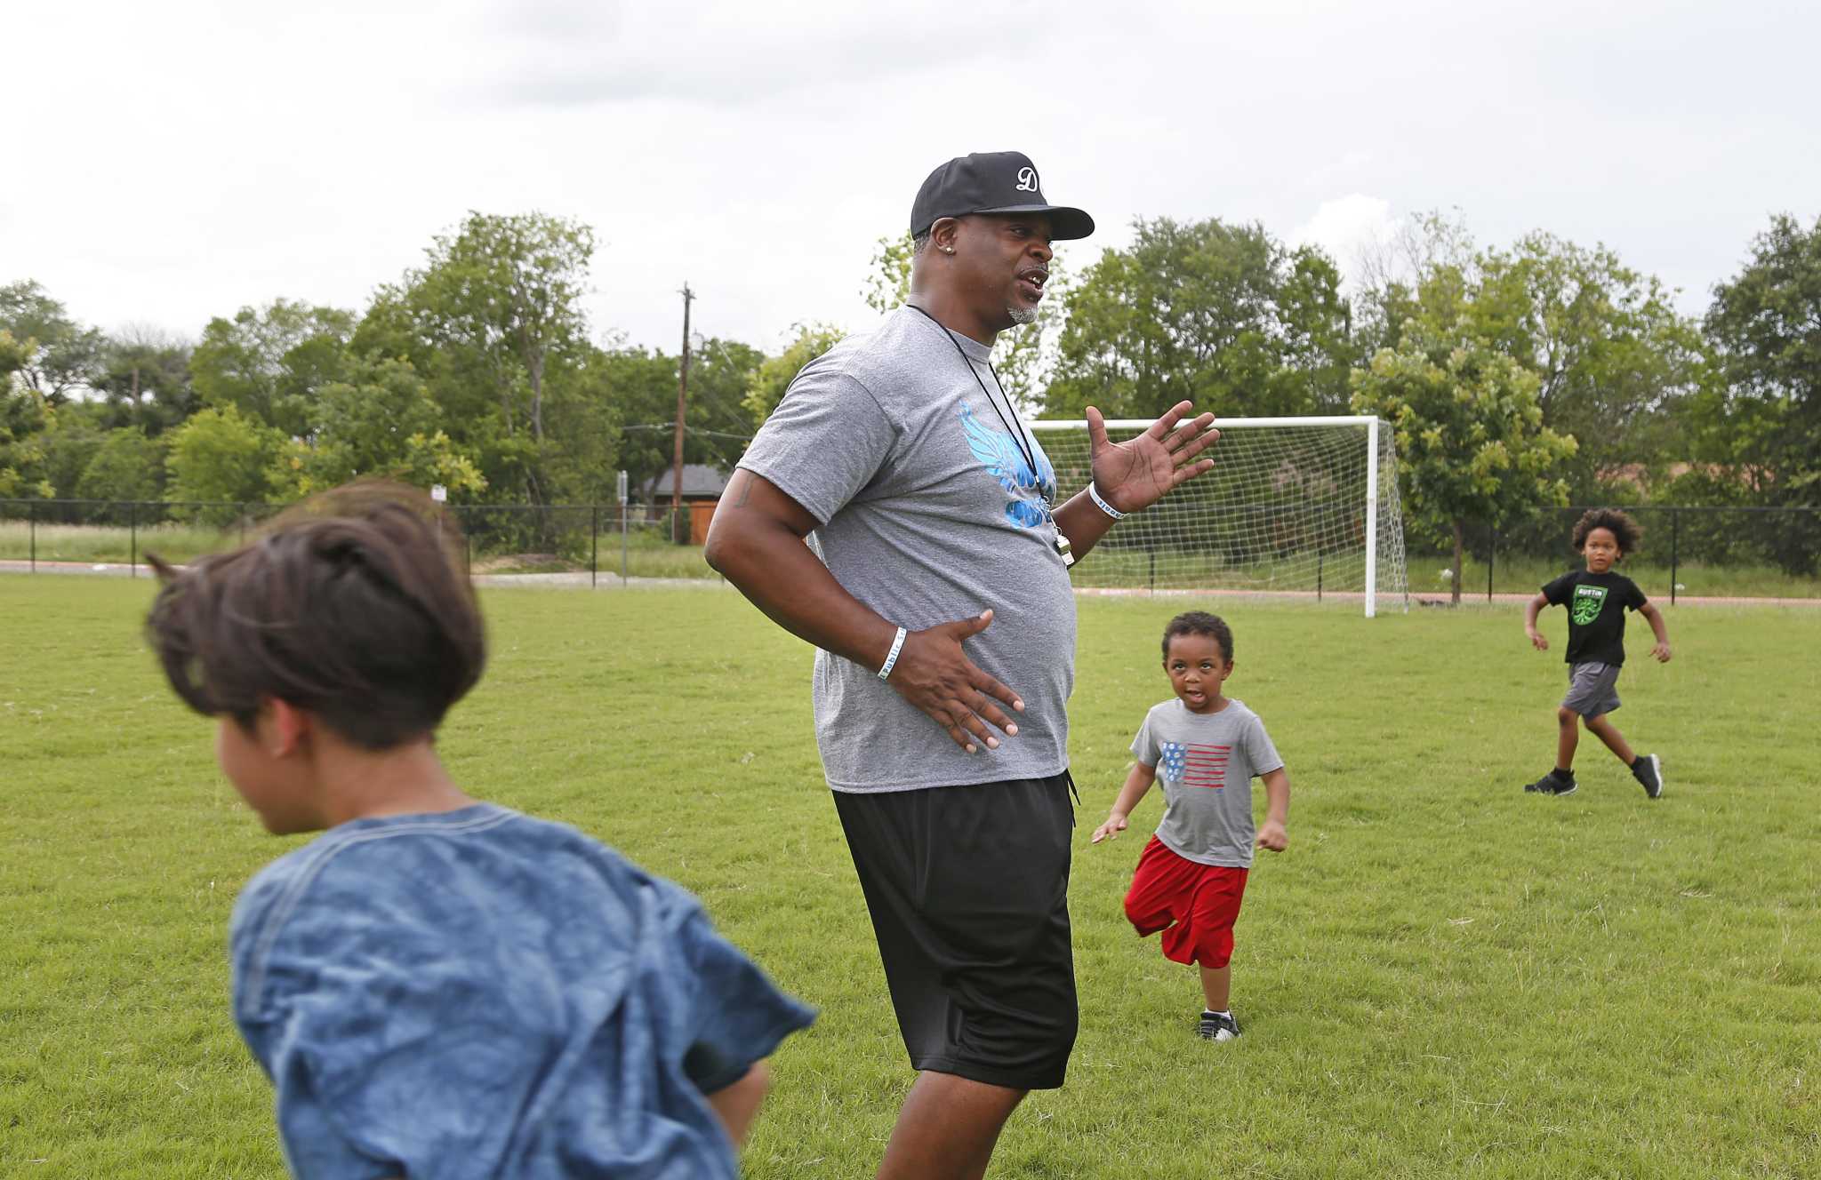
[{"label": "small boy in flag t-shirt and red shorts, running", "polygon": [[[1091,843],[1125,830],[1127,818],[1162,770],[1164,821],[1138,856],[1125,892],[1125,918],[1140,936],[1164,931],[1164,958],[1198,963],[1207,1007],[1196,1032],[1233,1040],[1233,921],[1246,896],[1256,847],[1289,845],[1289,776],[1258,714],[1222,696],[1233,676],[1233,630],[1191,610],[1164,628],[1164,672],[1176,699],[1145,714],[1133,739],[1136,763]],[[1267,810],[1253,829],[1251,779],[1264,779]]]}]

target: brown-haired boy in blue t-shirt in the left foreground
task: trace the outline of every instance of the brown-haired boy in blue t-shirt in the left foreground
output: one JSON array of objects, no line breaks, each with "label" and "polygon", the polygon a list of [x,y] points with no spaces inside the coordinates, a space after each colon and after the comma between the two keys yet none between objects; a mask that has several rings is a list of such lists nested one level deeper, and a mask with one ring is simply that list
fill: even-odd
[{"label": "brown-haired boy in blue t-shirt in the left foreground", "polygon": [[736,1176],[810,1023],[688,892],[437,759],[481,677],[453,524],[342,488],[164,588],[148,632],[275,834],[235,903],[240,1034],[295,1176]]}]

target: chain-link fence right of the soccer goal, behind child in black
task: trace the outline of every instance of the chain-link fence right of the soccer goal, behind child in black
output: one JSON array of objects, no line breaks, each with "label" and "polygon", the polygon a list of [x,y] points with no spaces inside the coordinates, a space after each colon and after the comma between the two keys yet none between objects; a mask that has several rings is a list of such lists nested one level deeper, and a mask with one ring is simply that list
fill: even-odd
[{"label": "chain-link fence right of the soccer goal, behind child in black", "polygon": [[[1579,568],[1573,528],[1586,506],[1548,508],[1506,528],[1470,524],[1464,532],[1462,595],[1535,594]],[[1643,544],[1621,563],[1644,594],[1679,597],[1821,597],[1821,508],[1626,506],[1643,528]],[[1453,552],[1437,541],[1415,544],[1413,594],[1446,594]]]}]

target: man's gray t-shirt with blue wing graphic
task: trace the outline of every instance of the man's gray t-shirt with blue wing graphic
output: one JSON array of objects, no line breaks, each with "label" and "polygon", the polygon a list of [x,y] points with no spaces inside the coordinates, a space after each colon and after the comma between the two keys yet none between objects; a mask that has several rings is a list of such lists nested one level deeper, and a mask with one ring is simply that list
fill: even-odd
[{"label": "man's gray t-shirt with blue wing graphic", "polygon": [[1005,710],[1016,738],[967,754],[878,663],[818,652],[816,741],[836,790],[1043,778],[1069,761],[1074,597],[1054,550],[1056,473],[1029,430],[1034,472],[1014,444],[991,350],[954,341],[918,311],[892,311],[803,366],[739,461],[821,521],[818,554],[887,621],[921,630],[991,606],[967,656],[1025,703]]}]

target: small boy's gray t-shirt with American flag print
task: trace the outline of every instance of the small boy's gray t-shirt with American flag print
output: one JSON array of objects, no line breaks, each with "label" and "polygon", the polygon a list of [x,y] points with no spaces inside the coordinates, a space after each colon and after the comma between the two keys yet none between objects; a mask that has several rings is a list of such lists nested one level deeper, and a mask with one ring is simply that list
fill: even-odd
[{"label": "small boy's gray t-shirt with American flag print", "polygon": [[1171,852],[1198,865],[1251,869],[1258,836],[1251,781],[1284,765],[1258,714],[1233,697],[1216,714],[1169,699],[1145,714],[1133,754],[1156,767],[1164,785],[1156,838]]}]

